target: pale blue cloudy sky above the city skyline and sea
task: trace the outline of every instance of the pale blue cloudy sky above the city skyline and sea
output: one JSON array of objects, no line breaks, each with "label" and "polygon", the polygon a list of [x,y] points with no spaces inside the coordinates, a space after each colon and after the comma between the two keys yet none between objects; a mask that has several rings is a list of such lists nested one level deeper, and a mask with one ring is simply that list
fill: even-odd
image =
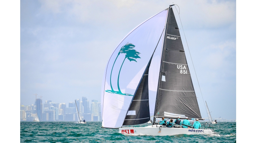
[{"label": "pale blue cloudy sky above the city skyline and sea", "polygon": [[201,92],[212,118],[236,119],[236,1],[20,1],[20,103],[33,104],[34,94],[43,102],[68,104],[82,96],[100,102],[112,51],[170,4],[180,8],[202,118]]}]

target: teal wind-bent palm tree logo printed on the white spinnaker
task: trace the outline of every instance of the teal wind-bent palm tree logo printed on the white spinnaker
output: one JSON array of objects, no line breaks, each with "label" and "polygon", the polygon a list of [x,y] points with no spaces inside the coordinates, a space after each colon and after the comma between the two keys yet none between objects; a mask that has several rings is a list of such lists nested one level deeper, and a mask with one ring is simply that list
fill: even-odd
[{"label": "teal wind-bent palm tree logo printed on the white spinnaker", "polygon": [[[118,52],[117,54],[117,57],[120,55],[120,54],[125,54],[125,58],[123,60],[123,62],[125,61],[125,59],[127,58],[130,62],[131,61],[135,61],[137,62],[135,59],[137,58],[140,58],[139,57],[139,52],[134,50],[133,48],[135,47],[135,45],[133,45],[132,43],[127,43],[126,45],[124,45],[120,51]],[[116,60],[117,60],[117,57],[116,57]],[[133,96],[131,94],[128,94],[128,93],[122,93],[121,90],[120,90],[120,87],[119,87],[119,76],[120,76],[120,72],[121,72],[121,69],[122,69],[122,66],[123,66],[123,63],[120,67],[120,70],[119,70],[119,74],[118,74],[118,78],[117,78],[117,88],[118,88],[118,91],[114,91],[113,87],[112,87],[112,84],[111,84],[111,76],[112,76],[112,71],[113,71],[113,67],[115,65],[115,62],[116,60],[114,61],[114,64],[112,66],[112,69],[111,69],[111,74],[110,74],[110,86],[111,86],[111,90],[106,90],[106,92],[110,92],[110,93],[116,93],[116,94],[120,94],[120,95],[129,95],[129,96]]]}]

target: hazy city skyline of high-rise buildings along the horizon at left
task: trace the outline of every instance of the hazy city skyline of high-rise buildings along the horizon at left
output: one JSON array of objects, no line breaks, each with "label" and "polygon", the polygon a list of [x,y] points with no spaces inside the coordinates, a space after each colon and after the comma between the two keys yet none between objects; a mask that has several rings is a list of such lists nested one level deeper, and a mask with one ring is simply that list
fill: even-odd
[{"label": "hazy city skyline of high-rise buildings along the horizon at left", "polygon": [[101,103],[93,99],[90,104],[86,97],[68,104],[55,103],[52,100],[43,102],[42,97],[36,98],[34,104],[20,104],[20,121],[33,121],[36,114],[39,121],[78,121],[77,111],[82,120],[101,121]]}]

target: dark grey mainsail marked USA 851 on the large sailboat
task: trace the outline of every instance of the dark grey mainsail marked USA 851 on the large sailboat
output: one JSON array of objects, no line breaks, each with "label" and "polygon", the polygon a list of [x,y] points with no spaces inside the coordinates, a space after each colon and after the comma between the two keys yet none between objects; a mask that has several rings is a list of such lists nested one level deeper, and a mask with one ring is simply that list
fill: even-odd
[{"label": "dark grey mainsail marked USA 851 on the large sailboat", "polygon": [[161,59],[155,116],[201,118],[180,31],[171,6]]}]

